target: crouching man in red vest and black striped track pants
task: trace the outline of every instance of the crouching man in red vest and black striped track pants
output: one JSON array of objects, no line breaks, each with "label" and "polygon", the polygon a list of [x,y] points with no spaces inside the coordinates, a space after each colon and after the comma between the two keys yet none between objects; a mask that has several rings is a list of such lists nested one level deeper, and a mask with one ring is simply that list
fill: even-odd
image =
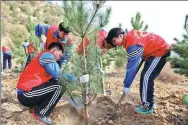
[{"label": "crouching man in red vest and black striped track pants", "polygon": [[48,50],[43,50],[28,64],[17,83],[19,102],[31,107],[33,117],[47,125],[52,124],[49,115],[64,93],[64,88],[57,83],[61,76],[57,60],[62,56],[61,43],[51,43]]}]

